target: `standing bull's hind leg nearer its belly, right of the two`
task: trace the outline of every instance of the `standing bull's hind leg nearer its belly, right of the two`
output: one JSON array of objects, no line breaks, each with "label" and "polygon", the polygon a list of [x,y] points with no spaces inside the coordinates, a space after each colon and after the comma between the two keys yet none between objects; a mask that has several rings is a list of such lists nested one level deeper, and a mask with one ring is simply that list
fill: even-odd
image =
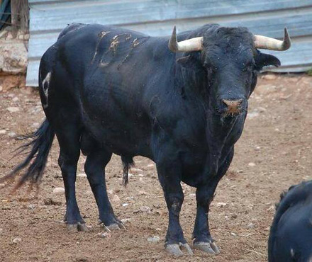
[{"label": "standing bull's hind leg nearer its belly, right of the two", "polygon": [[123,224],[113,213],[105,183],[105,166],[111,160],[111,155],[112,153],[105,149],[98,149],[89,153],[84,171],[87,173],[91,190],[99,208],[99,221],[108,229],[119,229],[123,227]]}]

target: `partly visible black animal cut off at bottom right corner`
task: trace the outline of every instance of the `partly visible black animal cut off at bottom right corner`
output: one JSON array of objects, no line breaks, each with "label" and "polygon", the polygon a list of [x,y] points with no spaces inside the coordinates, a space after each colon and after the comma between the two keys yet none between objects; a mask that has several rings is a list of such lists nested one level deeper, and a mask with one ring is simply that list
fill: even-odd
[{"label": "partly visible black animal cut off at bottom right corner", "polygon": [[282,193],[269,234],[269,262],[312,262],[312,181]]}]

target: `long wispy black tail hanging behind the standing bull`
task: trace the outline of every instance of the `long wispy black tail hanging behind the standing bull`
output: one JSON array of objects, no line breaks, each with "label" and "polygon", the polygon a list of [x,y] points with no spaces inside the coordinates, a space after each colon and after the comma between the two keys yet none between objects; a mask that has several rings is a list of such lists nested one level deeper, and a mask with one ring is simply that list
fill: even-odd
[{"label": "long wispy black tail hanging behind the standing bull", "polygon": [[28,170],[26,171],[26,173],[23,173],[18,183],[16,184],[15,189],[18,189],[26,181],[29,181],[32,184],[40,182],[43,176],[43,171],[45,169],[45,164],[47,163],[48,154],[50,152],[54,136],[55,132],[53,132],[48,120],[45,119],[45,121],[42,123],[42,125],[40,125],[37,131],[33,132],[30,135],[18,137],[18,139],[31,138],[32,141],[19,147],[17,149],[18,152],[16,155],[23,153],[29,147],[31,148],[30,152],[26,159],[21,162],[21,164],[18,164],[18,166],[16,166],[16,168],[13,169],[11,173],[4,176],[4,178],[1,178],[0,182],[10,178],[14,178],[19,173],[19,171],[26,168],[26,166],[28,165]]}]

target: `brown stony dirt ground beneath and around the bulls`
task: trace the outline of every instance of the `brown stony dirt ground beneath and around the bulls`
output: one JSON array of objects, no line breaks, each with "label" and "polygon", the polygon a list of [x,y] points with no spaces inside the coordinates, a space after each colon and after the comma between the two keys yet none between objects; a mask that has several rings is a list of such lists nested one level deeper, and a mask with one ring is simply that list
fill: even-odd
[{"label": "brown stony dirt ground beneath and around the bulls", "polygon": [[[127,230],[111,232],[106,238],[98,235],[105,229],[97,223],[96,203],[81,157],[77,200],[91,229],[67,232],[62,222],[65,197],[52,193],[63,186],[55,141],[38,198],[26,188],[10,196],[9,188],[0,185],[4,187],[0,190],[0,261],[267,261],[267,238],[279,194],[294,183],[312,179],[311,98],[312,77],[306,74],[260,77],[233,163],[211,205],[211,234],[220,255],[194,251],[192,257],[173,258],[165,253],[165,200],[155,165],[143,157],[135,158],[136,169],[127,188],[121,185],[120,158],[113,156],[108,164],[109,197],[116,215],[126,219]],[[5,86],[0,91],[0,176],[22,159],[11,159],[13,149],[21,145],[12,137],[35,130],[43,119],[37,91],[6,90]],[[191,243],[195,190],[183,188],[181,223]],[[152,236],[160,241],[147,241]]]}]

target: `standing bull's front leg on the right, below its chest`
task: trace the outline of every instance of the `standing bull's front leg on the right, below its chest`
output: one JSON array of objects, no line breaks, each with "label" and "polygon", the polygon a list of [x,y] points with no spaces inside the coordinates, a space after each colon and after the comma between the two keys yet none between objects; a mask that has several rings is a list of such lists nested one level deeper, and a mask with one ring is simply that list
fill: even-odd
[{"label": "standing bull's front leg on the right, below its chest", "polygon": [[209,230],[208,223],[208,212],[211,201],[213,200],[213,195],[215,193],[218,182],[224,176],[230,162],[233,159],[234,150],[231,149],[230,153],[226,157],[225,161],[218,169],[216,176],[213,176],[207,183],[198,186],[196,190],[196,220],[193,232],[193,244],[194,249],[200,249],[207,253],[219,254],[220,251],[218,246],[213,241]]}]

